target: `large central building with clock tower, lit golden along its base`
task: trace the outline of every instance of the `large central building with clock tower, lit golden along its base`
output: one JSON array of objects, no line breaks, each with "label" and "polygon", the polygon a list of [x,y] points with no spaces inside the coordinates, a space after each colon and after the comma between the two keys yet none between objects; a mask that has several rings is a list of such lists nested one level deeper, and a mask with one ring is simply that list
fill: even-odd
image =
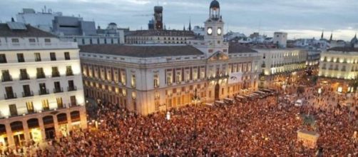
[{"label": "large central building with clock tower, lit golden along its base", "polygon": [[86,96],[147,115],[193,104],[195,89],[200,102],[257,90],[259,54],[224,42],[223,24],[220,5],[213,1],[203,40],[81,46]]}]

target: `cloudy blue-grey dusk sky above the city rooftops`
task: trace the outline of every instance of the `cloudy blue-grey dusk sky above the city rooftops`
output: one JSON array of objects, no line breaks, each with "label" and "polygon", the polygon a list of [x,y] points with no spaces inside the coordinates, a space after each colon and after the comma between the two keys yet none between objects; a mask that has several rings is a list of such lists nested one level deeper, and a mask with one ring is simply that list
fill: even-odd
[{"label": "cloudy blue-grey dusk sky above the city rooftops", "polygon": [[[357,0],[218,0],[225,31],[250,35],[272,36],[274,31],[285,31],[289,39],[319,38],[324,30],[328,39],[350,40],[358,32]],[[10,21],[23,8],[36,11],[46,7],[61,11],[66,16],[81,15],[86,21],[106,27],[115,22],[131,30],[147,29],[152,19],[153,6],[164,7],[164,23],[170,29],[203,26],[208,19],[211,0],[1,0],[0,21]],[[146,15],[146,16],[145,16]]]}]

